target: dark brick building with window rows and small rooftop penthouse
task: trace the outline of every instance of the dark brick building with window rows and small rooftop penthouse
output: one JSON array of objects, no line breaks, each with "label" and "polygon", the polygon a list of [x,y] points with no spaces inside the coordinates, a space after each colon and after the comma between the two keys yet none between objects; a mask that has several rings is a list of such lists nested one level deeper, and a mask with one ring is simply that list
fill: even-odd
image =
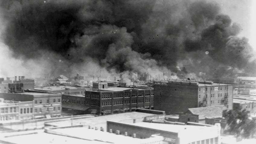
[{"label": "dark brick building with window rows and small rooftop penthouse", "polygon": [[108,87],[107,82],[94,82],[93,91],[85,91],[85,105],[96,114],[113,114],[136,108],[154,107],[152,88]]}]

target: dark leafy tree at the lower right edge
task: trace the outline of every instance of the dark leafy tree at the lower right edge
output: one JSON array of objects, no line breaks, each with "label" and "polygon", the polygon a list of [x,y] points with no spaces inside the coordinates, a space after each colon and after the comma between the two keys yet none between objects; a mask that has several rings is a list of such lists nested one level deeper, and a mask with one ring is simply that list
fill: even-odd
[{"label": "dark leafy tree at the lower right edge", "polygon": [[227,121],[227,131],[230,134],[242,139],[255,137],[256,119],[249,117],[249,111],[246,109],[223,110],[222,117]]}]

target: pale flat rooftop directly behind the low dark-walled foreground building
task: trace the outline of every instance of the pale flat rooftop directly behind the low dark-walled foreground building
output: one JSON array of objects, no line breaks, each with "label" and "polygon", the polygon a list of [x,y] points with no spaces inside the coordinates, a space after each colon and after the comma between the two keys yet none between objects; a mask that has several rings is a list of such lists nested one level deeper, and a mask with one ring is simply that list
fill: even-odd
[{"label": "pale flat rooftop directly behind the low dark-walled foreground building", "polygon": [[[144,117],[153,116],[156,114],[149,114],[149,113],[142,113],[142,112],[126,112],[120,114],[111,114],[105,116],[98,116],[98,117],[88,117],[88,118],[79,118],[73,119],[73,125],[84,125],[84,126],[97,126],[98,128],[103,127],[106,130],[107,120],[117,121],[117,122],[125,122],[125,123],[133,123],[133,119],[136,119],[137,122],[141,122]],[[47,124],[53,126],[70,126],[71,120],[63,120],[56,122],[48,122]]]}]

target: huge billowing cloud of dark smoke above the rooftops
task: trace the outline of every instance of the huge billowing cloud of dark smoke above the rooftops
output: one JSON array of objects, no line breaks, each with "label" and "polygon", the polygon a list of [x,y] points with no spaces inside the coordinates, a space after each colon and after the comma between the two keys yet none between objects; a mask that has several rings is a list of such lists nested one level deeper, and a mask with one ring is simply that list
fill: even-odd
[{"label": "huge billowing cloud of dark smoke above the rooftops", "polygon": [[182,67],[199,78],[255,70],[248,40],[236,36],[241,27],[214,2],[3,0],[1,12],[1,49],[9,53],[1,56],[10,59],[3,76],[101,71],[111,80],[119,73],[163,79]]}]

